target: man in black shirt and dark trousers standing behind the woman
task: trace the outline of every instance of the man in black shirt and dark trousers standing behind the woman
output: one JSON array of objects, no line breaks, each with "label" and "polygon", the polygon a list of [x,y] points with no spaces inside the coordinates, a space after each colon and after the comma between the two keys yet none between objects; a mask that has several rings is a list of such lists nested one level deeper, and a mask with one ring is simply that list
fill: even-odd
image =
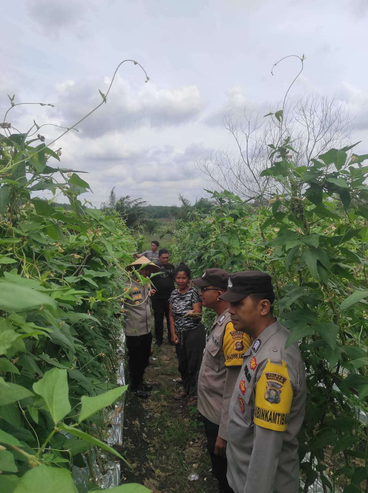
[{"label": "man in black shirt and dark trousers standing behind the woman", "polygon": [[171,343],[169,323],[169,298],[174,286],[175,267],[169,264],[169,252],[161,248],[158,252],[156,265],[161,269],[160,274],[152,279],[154,288],[151,289],[151,301],[154,315],[154,333],[156,345],[161,346],[163,342],[163,318],[166,317],[167,341]]}]

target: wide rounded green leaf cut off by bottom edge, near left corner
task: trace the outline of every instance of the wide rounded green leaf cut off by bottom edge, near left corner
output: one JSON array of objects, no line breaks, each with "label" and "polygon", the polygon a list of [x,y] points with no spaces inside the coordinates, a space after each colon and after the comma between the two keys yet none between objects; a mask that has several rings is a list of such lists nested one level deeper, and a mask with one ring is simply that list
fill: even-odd
[{"label": "wide rounded green leaf cut off by bottom edge, near left corner", "polygon": [[67,469],[39,465],[22,476],[13,493],[78,493]]}]

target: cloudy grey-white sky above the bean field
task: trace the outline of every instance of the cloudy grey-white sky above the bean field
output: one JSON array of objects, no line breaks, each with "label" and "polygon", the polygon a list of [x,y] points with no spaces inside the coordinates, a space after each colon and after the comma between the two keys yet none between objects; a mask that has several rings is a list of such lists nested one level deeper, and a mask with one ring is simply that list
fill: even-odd
[{"label": "cloudy grey-white sky above the bean field", "polygon": [[2,114],[7,93],[55,105],[11,110],[16,128],[33,118],[71,126],[100,103],[122,60],[147,70],[145,83],[124,64],[107,104],[58,142],[61,166],[89,172],[85,197],[96,206],[113,186],[153,205],[204,196],[196,158],[232,143],[226,111],[263,111],[283,96],[298,61],[271,69],[290,54],[307,57],[292,96],[335,96],[368,152],[367,0],[13,0],[1,10]]}]

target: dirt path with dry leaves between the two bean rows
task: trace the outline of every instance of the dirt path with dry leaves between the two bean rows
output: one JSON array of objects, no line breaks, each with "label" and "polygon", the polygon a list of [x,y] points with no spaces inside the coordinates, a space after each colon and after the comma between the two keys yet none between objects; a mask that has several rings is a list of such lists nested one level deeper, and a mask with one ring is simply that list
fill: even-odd
[{"label": "dirt path with dry leaves between the two bean rows", "polygon": [[[216,493],[200,415],[173,399],[181,388],[175,349],[167,343],[153,347],[145,374],[153,384],[151,398],[126,396],[122,451],[133,470],[122,463],[122,483],[139,483],[154,493]],[[191,473],[199,479],[189,481]]]}]

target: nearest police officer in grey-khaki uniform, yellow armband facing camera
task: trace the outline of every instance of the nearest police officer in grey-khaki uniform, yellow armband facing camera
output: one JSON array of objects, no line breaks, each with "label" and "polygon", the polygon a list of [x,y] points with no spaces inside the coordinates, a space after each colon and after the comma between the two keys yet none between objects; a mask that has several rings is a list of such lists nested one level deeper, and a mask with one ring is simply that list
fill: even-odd
[{"label": "nearest police officer in grey-khaki uniform, yellow armband facing camera", "polygon": [[235,493],[298,493],[297,435],[306,404],[305,367],[297,343],[272,314],[271,278],[258,271],[231,274],[220,299],[230,302],[235,330],[252,345],[230,401],[227,479]]}]

